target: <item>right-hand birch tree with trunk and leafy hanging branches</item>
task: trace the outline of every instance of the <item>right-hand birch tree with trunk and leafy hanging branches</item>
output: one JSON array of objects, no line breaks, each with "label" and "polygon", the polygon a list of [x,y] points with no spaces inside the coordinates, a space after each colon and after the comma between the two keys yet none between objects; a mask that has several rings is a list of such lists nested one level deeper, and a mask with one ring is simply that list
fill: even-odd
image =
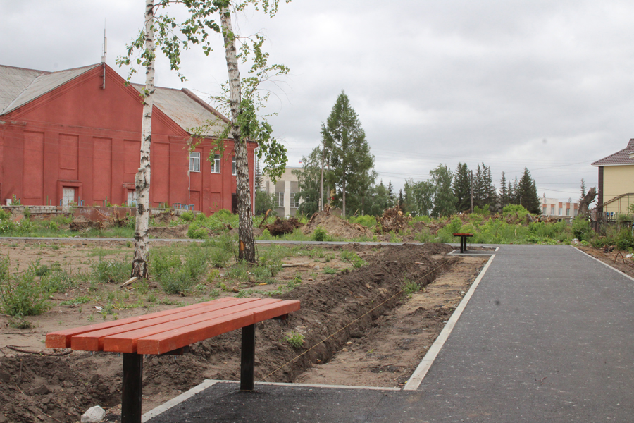
[{"label": "right-hand birch tree with trunk and leafy hanging branches", "polygon": [[[147,0],[150,2],[150,0]],[[286,0],[288,3],[290,0]],[[247,154],[247,140],[259,143],[257,157],[264,159],[263,171],[275,180],[284,172],[287,161],[286,148],[271,135],[273,128],[261,116],[258,115],[261,106],[266,103],[268,93],[261,95],[259,86],[262,82],[274,78],[277,75],[285,75],[288,68],[283,65],[268,65],[268,53],[263,51],[264,38],[261,35],[241,38],[233,31],[232,13],[242,11],[249,4],[256,10],[261,9],[271,18],[278,11],[279,0],[159,0],[154,7],[167,8],[172,4],[180,4],[187,8],[187,18],[178,22],[167,14],[153,15],[156,27],[152,27],[159,35],[157,44],[170,61],[170,68],[180,70],[180,52],[188,49],[192,44],[199,44],[204,54],[212,51],[209,35],[216,32],[223,36],[225,47],[225,62],[229,75],[228,84],[221,87],[222,94],[212,97],[220,102],[218,109],[223,110],[224,104],[228,105],[230,122],[221,133],[216,136],[215,151],[223,152],[225,138],[231,134],[234,142],[236,159],[236,195],[238,203],[239,226],[239,258],[247,262],[256,261],[255,239],[253,235],[253,220],[251,207],[251,190],[249,186],[249,158]],[[218,15],[220,23],[213,19]],[[145,30],[145,34],[148,29]],[[129,64],[130,56],[135,49],[140,49],[144,32],[139,35],[136,42],[128,47],[128,57],[121,59],[120,63]],[[240,41],[240,47],[237,46]],[[149,54],[145,49],[142,57],[151,56],[154,59],[154,51]],[[240,78],[238,62],[251,63],[247,78]],[[139,62],[137,62],[139,63]],[[133,72],[133,71],[132,71]],[[179,73],[181,80],[185,77]],[[203,137],[205,130],[218,122],[210,122],[204,128],[189,128],[189,132],[198,139]],[[196,140],[189,145],[193,149]],[[211,157],[210,159],[213,159]],[[148,154],[149,160],[149,154]],[[147,180],[149,185],[149,178]]]}]

